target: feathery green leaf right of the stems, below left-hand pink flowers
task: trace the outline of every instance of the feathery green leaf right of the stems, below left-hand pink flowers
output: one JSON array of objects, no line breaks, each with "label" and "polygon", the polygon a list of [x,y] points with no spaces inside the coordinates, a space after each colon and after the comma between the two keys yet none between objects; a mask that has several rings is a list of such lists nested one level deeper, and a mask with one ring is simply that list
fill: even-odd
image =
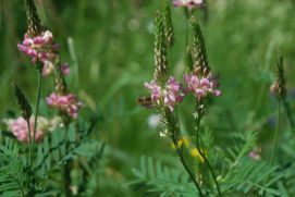
[{"label": "feathery green leaf right of the stems, below left-hand pink flowers", "polygon": [[47,177],[51,170],[64,165],[79,156],[94,157],[100,150],[97,140],[79,141],[78,133],[73,124],[67,131],[58,127],[52,132],[50,139],[46,137],[38,146],[37,164],[35,172],[39,177]]}]

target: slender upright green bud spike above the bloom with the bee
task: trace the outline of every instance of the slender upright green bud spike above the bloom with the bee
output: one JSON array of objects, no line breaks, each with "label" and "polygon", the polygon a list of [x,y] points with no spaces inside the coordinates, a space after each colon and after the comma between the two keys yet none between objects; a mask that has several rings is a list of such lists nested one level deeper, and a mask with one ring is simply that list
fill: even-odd
[{"label": "slender upright green bud spike above the bloom with the bee", "polygon": [[157,12],[155,20],[155,74],[156,81],[164,81],[168,74],[167,44],[164,37],[163,19],[160,12]]}]

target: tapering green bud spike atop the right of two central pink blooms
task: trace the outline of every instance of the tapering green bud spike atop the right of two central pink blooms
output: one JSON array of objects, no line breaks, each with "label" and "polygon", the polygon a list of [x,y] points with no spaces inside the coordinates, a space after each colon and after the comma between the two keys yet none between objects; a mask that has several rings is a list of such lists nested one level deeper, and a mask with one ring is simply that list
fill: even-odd
[{"label": "tapering green bud spike atop the right of two central pink blooms", "polygon": [[210,67],[207,59],[205,40],[201,34],[200,26],[195,17],[192,17],[190,25],[193,28],[193,60],[194,70],[200,71],[204,75],[210,73]]}]

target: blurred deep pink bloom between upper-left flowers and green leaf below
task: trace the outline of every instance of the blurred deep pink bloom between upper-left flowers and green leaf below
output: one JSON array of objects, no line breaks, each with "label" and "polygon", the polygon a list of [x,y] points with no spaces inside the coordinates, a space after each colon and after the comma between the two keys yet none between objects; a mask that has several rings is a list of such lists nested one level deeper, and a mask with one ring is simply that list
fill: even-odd
[{"label": "blurred deep pink bloom between upper-left flowers and green leaf below", "polygon": [[49,107],[57,108],[73,119],[77,119],[78,110],[83,107],[83,103],[72,94],[58,95],[53,93],[46,98],[46,102]]}]

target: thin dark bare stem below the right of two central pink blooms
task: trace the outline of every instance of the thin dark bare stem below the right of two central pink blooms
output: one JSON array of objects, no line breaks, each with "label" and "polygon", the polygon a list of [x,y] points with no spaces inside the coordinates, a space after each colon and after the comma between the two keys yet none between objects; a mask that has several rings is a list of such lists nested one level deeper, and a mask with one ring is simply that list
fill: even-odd
[{"label": "thin dark bare stem below the right of two central pink blooms", "polygon": [[220,186],[219,186],[219,183],[217,181],[217,176],[216,176],[216,173],[213,171],[213,168],[211,167],[210,162],[208,161],[208,159],[206,158],[206,155],[204,153],[204,151],[200,149],[199,147],[199,130],[200,130],[200,120],[201,120],[201,114],[200,114],[200,111],[198,110],[197,108],[197,112],[198,112],[198,116],[196,118],[196,147],[197,147],[197,150],[200,155],[200,157],[204,159],[205,163],[207,164],[212,177],[213,177],[213,181],[214,181],[214,184],[217,186],[217,190],[218,190],[218,195],[220,197],[222,197],[222,194],[221,194],[221,189],[220,189]]}]

